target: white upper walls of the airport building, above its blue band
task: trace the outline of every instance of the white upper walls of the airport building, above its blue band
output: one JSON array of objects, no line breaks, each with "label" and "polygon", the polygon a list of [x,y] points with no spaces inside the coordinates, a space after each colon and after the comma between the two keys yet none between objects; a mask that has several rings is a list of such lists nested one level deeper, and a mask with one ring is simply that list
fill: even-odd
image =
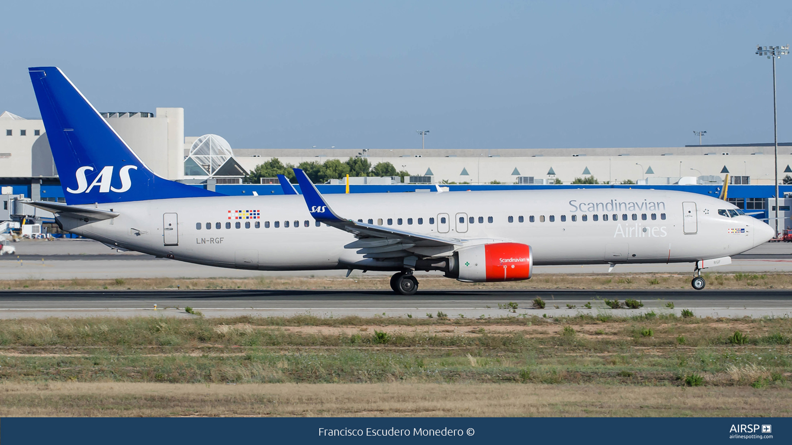
[{"label": "white upper walls of the airport building, above its blue band", "polygon": [[[185,137],[184,108],[150,112],[104,112],[102,116],[155,173],[177,181],[238,184],[246,170],[270,158],[300,162],[342,161],[355,156],[371,165],[390,162],[397,170],[432,181],[489,184],[569,184],[577,177],[600,183],[713,184],[729,173],[734,184],[773,184],[773,146],[684,146],[659,148],[345,150],[236,149],[220,136]],[[779,145],[779,177],[792,176],[792,144]],[[186,160],[186,162],[185,162]],[[186,172],[186,173],[185,173]],[[782,173],[783,172],[783,173]],[[57,170],[42,120],[0,114],[0,177],[55,177]]]}]

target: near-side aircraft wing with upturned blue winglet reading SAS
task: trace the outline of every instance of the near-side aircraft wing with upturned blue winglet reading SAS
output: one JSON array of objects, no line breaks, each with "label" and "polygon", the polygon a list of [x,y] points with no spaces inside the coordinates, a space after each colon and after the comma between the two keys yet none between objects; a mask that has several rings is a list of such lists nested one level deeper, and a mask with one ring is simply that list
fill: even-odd
[{"label": "near-side aircraft wing with upturned blue winglet reading SAS", "polygon": [[310,215],[328,226],[345,230],[359,238],[344,247],[360,249],[367,258],[395,258],[417,255],[431,257],[439,253],[453,252],[463,245],[457,238],[441,238],[428,234],[417,234],[407,230],[375,226],[352,219],[344,219],[337,215],[319,193],[318,189],[302,169],[294,169],[297,182],[303,191],[305,203]]}]

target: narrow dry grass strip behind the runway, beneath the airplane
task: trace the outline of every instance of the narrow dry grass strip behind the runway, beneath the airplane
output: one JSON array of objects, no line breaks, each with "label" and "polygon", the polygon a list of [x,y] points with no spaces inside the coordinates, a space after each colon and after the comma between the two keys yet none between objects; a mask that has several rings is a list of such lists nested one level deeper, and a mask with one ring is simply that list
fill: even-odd
[{"label": "narrow dry grass strip behind the runway, beneath the airplane", "polygon": [[[436,289],[688,289],[690,274],[545,274],[508,283],[459,283],[417,276],[422,290]],[[705,274],[708,289],[792,289],[792,274]],[[390,278],[116,278],[114,280],[0,280],[0,289],[341,289],[390,291]]]}]

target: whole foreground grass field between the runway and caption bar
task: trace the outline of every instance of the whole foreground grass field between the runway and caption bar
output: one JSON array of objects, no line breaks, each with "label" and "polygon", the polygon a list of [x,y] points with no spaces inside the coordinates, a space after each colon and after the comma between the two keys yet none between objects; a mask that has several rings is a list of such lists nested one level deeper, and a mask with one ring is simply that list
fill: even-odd
[{"label": "whole foreground grass field between the runway and caption bar", "polygon": [[0,321],[0,416],[790,416],[792,320]]}]

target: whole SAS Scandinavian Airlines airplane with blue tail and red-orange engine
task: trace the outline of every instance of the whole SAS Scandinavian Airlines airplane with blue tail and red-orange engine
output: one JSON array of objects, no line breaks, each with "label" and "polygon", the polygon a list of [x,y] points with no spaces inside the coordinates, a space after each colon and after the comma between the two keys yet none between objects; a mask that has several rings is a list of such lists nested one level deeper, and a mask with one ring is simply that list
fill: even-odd
[{"label": "whole SAS Scandinavian Airlines airplane with blue tail and red-orange engine", "polygon": [[153,173],[57,67],[29,68],[66,203],[32,202],[62,230],[114,249],[223,268],[414,272],[466,283],[527,280],[535,265],[692,263],[703,268],[773,238],[725,200],[669,190],[582,188],[322,196],[225,196]]}]

